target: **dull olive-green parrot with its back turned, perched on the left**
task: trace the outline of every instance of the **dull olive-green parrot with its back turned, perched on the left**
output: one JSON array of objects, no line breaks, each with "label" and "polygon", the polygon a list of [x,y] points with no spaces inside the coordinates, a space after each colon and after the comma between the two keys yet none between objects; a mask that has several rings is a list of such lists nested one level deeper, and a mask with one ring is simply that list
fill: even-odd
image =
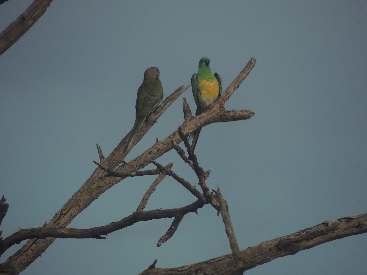
[{"label": "dull olive-green parrot with its back turned, perched on the left", "polygon": [[157,67],[150,67],[144,73],[143,83],[138,89],[137,102],[135,104],[136,114],[134,127],[130,131],[130,137],[124,152],[130,146],[146,116],[154,111],[163,99],[163,87],[159,80],[160,72]]}]

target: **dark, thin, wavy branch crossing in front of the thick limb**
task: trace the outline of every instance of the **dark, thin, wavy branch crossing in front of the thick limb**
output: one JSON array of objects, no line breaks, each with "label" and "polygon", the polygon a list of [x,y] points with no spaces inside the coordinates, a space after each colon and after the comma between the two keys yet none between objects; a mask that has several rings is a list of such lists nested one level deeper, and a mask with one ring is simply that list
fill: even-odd
[{"label": "dark, thin, wavy branch crossing in front of the thick limb", "polygon": [[[20,243],[21,241],[24,241],[26,239],[33,239],[33,238],[44,239],[48,237],[73,238],[73,239],[87,239],[87,238],[105,239],[105,237],[102,237],[101,235],[110,234],[111,232],[128,227],[139,221],[173,218],[179,215],[183,216],[190,212],[196,212],[197,209],[203,207],[204,205],[205,205],[204,202],[195,201],[181,208],[172,208],[163,210],[155,209],[149,211],[134,212],[130,216],[127,216],[120,221],[88,229],[55,228],[55,227],[37,227],[37,228],[21,229],[5,238],[3,241],[0,241],[0,248],[1,248],[0,255],[4,253],[12,245]],[[2,267],[3,264],[0,264],[0,273],[4,272],[4,270],[1,269]]]}]

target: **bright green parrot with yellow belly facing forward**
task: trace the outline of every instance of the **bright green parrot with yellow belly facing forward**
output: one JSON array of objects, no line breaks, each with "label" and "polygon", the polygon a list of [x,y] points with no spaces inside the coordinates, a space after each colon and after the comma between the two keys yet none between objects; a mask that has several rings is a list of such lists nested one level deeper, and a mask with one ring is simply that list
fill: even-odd
[{"label": "bright green parrot with yellow belly facing forward", "polygon": [[[222,94],[222,78],[219,74],[213,74],[210,69],[210,59],[203,57],[199,61],[199,70],[197,74],[191,77],[192,94],[196,103],[196,116],[203,113],[211,104],[217,101]],[[191,148],[195,150],[196,142],[199,137],[201,128],[190,134],[192,139]]]}]

